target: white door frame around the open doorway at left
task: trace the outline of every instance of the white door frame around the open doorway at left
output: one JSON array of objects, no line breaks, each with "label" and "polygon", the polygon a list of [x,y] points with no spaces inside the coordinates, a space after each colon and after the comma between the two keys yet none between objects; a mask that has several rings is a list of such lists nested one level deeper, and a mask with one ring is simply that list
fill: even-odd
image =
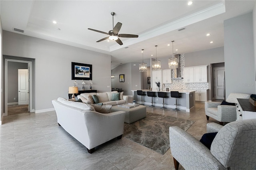
[{"label": "white door frame around the open doorway at left", "polygon": [[28,96],[28,112],[33,111],[32,109],[32,61],[16,60],[16,59],[5,59],[5,72],[4,72],[4,105],[5,112],[4,115],[8,115],[8,61],[28,63],[28,86],[29,86],[29,96]]}]

